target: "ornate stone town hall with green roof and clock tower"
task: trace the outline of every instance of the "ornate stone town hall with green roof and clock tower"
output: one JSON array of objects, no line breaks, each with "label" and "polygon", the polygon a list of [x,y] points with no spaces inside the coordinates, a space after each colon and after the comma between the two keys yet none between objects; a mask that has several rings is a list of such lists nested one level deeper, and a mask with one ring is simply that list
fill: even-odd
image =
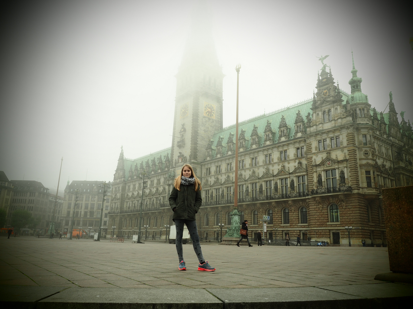
[{"label": "ornate stone town hall with green roof and clock tower", "polygon": [[122,149],[108,222],[115,234],[137,231],[145,171],[142,238],[165,239],[165,226],[173,224],[169,192],[188,162],[202,182],[202,237],[217,237],[218,223],[230,227],[238,177],[241,220],[255,232],[263,215],[271,217],[264,238],[289,233],[347,245],[344,227],[352,226],[358,228],[352,243],[386,243],[382,188],[413,180],[413,131],[403,112],[399,122],[392,94],[389,112],[377,112],[361,92],[354,61],[350,93],[323,63],[313,98],[240,122],[235,145],[235,125],[222,127],[223,74],[213,46],[194,37],[188,42],[176,75],[171,147],[138,159],[125,158]]}]

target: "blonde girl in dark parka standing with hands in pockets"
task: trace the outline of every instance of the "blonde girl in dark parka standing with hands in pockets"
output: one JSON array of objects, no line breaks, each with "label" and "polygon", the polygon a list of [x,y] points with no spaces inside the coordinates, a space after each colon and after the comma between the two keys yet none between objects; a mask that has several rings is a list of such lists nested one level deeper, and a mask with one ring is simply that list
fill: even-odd
[{"label": "blonde girl in dark parka standing with hands in pockets", "polygon": [[201,189],[201,182],[197,176],[195,176],[192,166],[190,166],[190,164],[184,164],[180,176],[175,178],[171,195],[169,196],[169,205],[173,211],[172,220],[176,225],[175,243],[176,252],[178,253],[179,270],[186,270],[182,251],[184,224],[188,227],[188,232],[192,239],[192,246],[199,261],[198,270],[205,270],[207,272],[213,272],[215,270],[214,267],[209,265],[208,261],[205,261],[202,255],[197,222],[195,221],[195,214],[202,204]]}]

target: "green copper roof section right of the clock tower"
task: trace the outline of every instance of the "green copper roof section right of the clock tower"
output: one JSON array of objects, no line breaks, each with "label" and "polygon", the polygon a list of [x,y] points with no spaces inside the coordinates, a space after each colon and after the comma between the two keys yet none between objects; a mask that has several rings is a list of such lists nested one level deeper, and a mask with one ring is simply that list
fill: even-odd
[{"label": "green copper roof section right of the clock tower", "polygon": [[[342,91],[342,99],[344,102],[347,100],[349,94],[346,92]],[[343,104],[344,104],[343,102]],[[313,99],[308,99],[306,101],[302,101],[299,103],[296,103],[294,105],[287,106],[286,108],[282,108],[280,110],[275,110],[274,112],[270,112],[268,114],[263,114],[259,115],[257,117],[253,117],[251,119],[247,119],[245,121],[242,121],[238,124],[238,130],[239,133],[241,133],[241,129],[245,130],[245,138],[247,141],[245,142],[245,147],[249,148],[250,147],[250,136],[252,129],[254,128],[254,125],[258,126],[258,134],[260,136],[260,146],[263,145],[264,142],[264,128],[267,125],[267,120],[271,121],[271,129],[274,132],[273,133],[273,140],[275,143],[277,143],[278,140],[278,126],[280,125],[281,121],[281,116],[283,115],[285,117],[285,121],[287,122],[287,125],[290,126],[290,132],[289,132],[289,139],[294,137],[295,133],[295,118],[297,117],[297,112],[301,112],[301,116],[304,118],[304,122],[306,120],[306,115],[307,113],[310,112],[312,114],[311,110],[311,104],[313,103]],[[223,128],[222,130],[214,133],[214,136],[212,139],[214,140],[214,143],[212,144],[212,156],[215,157],[215,151],[216,151],[216,143],[218,141],[218,138],[221,136],[223,137],[222,140],[222,154],[226,154],[226,143],[228,140],[228,137],[230,133],[233,133],[235,135],[235,124],[231,126],[227,126]],[[235,136],[233,138],[235,142]]]}]

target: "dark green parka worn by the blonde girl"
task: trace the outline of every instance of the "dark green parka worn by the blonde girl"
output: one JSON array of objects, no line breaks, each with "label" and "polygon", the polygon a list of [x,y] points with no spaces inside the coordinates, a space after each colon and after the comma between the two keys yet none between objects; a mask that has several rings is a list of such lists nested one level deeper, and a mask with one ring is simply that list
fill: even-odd
[{"label": "dark green parka worn by the blonde girl", "polygon": [[[195,214],[198,212],[202,204],[201,190],[195,191],[194,185],[180,185],[180,191],[176,187],[172,188],[169,196],[169,205],[173,211],[172,220],[187,219],[195,220]],[[173,210],[173,208],[176,208]]]}]

